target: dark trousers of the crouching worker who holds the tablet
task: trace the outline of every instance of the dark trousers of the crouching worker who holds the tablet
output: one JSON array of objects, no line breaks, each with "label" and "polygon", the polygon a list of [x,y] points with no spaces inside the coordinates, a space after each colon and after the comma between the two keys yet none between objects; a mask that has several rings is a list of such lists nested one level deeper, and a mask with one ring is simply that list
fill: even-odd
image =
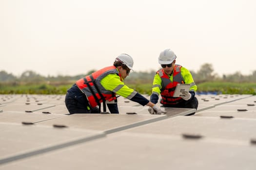
[{"label": "dark trousers of the crouching worker who holds the tablet", "polygon": [[[191,109],[197,109],[198,107],[198,100],[194,96],[193,99],[190,99],[188,101],[182,100],[182,102],[179,102],[177,104],[163,104],[161,107],[175,107],[175,108],[191,108]],[[188,114],[186,116],[194,115],[196,112]]]}]

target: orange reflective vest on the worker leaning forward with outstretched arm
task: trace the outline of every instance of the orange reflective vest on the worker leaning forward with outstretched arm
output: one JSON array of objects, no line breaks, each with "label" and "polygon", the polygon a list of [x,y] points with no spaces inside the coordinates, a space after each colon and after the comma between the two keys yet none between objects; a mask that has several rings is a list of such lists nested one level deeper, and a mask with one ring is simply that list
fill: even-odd
[{"label": "orange reflective vest on the worker leaning forward with outstretched arm", "polygon": [[[79,89],[86,95],[87,100],[90,106],[96,107],[100,106],[100,103],[103,102],[103,109],[105,107],[105,101],[111,101],[115,99],[116,94],[110,90],[106,90],[101,84],[101,80],[106,77],[108,74],[117,74],[120,77],[117,68],[115,66],[110,66],[102,68],[89,76],[85,76],[79,79],[76,84]],[[105,109],[104,109],[105,112]]]}]

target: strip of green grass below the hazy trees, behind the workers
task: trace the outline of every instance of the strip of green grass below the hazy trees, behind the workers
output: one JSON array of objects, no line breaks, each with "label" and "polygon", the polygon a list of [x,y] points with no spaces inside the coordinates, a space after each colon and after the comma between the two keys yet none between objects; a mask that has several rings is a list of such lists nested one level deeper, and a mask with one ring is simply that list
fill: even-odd
[{"label": "strip of green grass below the hazy trees, behind the workers", "polygon": [[[151,94],[152,84],[127,84],[141,94]],[[65,94],[68,85],[12,85],[0,84],[0,94]],[[217,94],[253,94],[256,95],[256,83],[205,82],[197,84],[197,92],[215,92]]]}]

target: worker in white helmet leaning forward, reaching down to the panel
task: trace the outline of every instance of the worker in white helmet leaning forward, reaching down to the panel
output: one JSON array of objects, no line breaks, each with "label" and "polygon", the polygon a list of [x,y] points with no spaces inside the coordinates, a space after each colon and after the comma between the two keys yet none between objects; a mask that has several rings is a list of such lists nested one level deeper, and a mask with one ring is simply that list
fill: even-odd
[{"label": "worker in white helmet leaning forward, reaching down to the panel", "polygon": [[79,79],[65,97],[65,104],[70,114],[106,112],[106,105],[111,113],[119,113],[117,97],[120,95],[141,105],[152,108],[151,114],[161,114],[161,109],[134,89],[124,85],[124,79],[133,70],[133,59],[128,54],[120,54],[113,66],[102,68],[91,75]]}]

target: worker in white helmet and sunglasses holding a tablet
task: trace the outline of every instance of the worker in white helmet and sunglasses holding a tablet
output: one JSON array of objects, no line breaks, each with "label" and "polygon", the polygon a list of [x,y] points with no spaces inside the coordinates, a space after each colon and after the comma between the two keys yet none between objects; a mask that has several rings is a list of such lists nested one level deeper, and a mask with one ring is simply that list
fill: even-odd
[{"label": "worker in white helmet and sunglasses holding a tablet", "polygon": [[[150,101],[156,104],[159,99],[158,96],[161,95],[161,107],[197,109],[198,101],[195,97],[197,85],[188,69],[175,64],[176,58],[177,56],[170,49],[160,52],[158,63],[162,68],[157,71],[154,77]],[[179,97],[173,97],[177,84],[190,84],[190,89],[184,91]],[[151,108],[148,110],[153,112]]]}]

